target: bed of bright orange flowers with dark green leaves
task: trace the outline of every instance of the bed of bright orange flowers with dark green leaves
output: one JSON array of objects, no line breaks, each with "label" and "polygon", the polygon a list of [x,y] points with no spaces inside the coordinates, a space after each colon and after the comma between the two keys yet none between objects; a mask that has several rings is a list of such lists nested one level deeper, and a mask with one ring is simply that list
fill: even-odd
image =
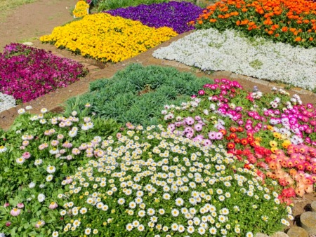
[{"label": "bed of bright orange flowers with dark green leaves", "polygon": [[249,36],[305,48],[316,46],[316,3],[305,0],[225,0],[208,6],[195,27],[237,29]]}]

